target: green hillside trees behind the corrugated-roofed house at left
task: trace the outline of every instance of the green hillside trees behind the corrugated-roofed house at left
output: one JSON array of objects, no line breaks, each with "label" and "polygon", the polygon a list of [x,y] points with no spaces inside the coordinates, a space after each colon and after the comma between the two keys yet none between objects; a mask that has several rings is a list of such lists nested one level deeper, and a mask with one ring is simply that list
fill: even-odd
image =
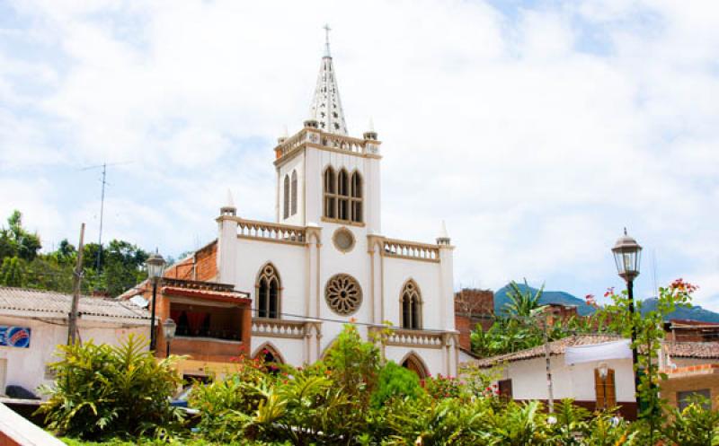
[{"label": "green hillside trees behind the corrugated-roofed house at left", "polygon": [[[28,232],[22,225],[22,214],[14,211],[7,227],[0,228],[0,285],[71,293],[75,246],[66,239],[54,251],[42,253],[41,248],[38,234]],[[123,293],[146,277],[147,257],[145,250],[124,240],[111,240],[102,249],[97,243],[85,244],[83,293]]]}]

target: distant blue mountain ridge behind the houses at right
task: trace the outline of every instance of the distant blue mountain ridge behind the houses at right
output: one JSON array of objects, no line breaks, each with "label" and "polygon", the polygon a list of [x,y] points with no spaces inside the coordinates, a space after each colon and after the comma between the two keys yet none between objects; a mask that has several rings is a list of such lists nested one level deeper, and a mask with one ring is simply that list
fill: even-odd
[{"label": "distant blue mountain ridge behind the houses at right", "polygon": [[[525,284],[519,284],[519,289],[522,292],[526,292],[529,289],[532,293],[537,293],[537,288],[527,287]],[[504,310],[504,304],[510,302],[510,298],[507,296],[507,292],[510,291],[510,284],[502,286],[499,290],[494,293],[494,314],[503,315],[506,313]],[[544,291],[542,297],[539,299],[539,303],[561,303],[563,305],[576,305],[577,312],[581,316],[586,316],[594,312],[587,302],[582,299],[573,296],[570,293],[564,293],[564,291]],[[642,312],[647,312],[656,309],[657,299],[655,297],[644,300],[644,307]],[[690,308],[678,308],[671,312],[666,319],[691,319],[699,320],[702,322],[719,322],[719,313],[714,311],[705,310],[699,306],[692,306]]]}]

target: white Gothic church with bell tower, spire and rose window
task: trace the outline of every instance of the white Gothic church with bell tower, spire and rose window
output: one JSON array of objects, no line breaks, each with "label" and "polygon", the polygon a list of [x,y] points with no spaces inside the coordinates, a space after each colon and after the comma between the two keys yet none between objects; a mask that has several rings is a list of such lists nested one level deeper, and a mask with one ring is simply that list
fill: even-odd
[{"label": "white Gothic church with bell tower, spire and rose window", "polygon": [[231,196],[217,217],[211,280],[249,293],[248,352],[313,363],[343,324],[368,336],[388,323],[386,359],[456,376],[454,247],[444,229],[432,243],[383,235],[380,142],[348,136],[329,46],[310,116],[274,148],[276,221],[244,218]]}]

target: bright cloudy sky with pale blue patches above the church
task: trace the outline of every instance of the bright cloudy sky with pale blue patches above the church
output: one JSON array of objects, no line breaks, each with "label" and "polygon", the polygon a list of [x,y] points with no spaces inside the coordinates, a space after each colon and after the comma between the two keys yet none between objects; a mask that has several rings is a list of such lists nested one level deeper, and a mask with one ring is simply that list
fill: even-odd
[{"label": "bright cloudy sky with pale blue patches above the church", "polygon": [[[352,136],[382,140],[384,235],[447,222],[456,287],[579,297],[682,277],[719,310],[715,0],[0,0],[0,215],[51,250],[177,257],[226,190],[273,221],[277,138],[308,117],[329,23]],[[95,167],[93,167],[95,166]]]}]

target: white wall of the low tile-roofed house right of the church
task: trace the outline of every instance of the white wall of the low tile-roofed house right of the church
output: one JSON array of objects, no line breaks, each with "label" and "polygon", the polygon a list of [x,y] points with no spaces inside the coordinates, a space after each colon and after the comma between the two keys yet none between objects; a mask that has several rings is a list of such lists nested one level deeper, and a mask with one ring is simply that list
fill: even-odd
[{"label": "white wall of the low tile-roofed house right of the church", "polygon": [[[634,375],[631,359],[603,361],[614,369],[617,402],[633,402]],[[574,398],[578,401],[595,401],[594,369],[599,363],[564,364],[564,354],[552,356],[552,385],[555,400]],[[548,399],[546,363],[544,357],[507,364],[502,379],[510,379],[514,399]]]}]

